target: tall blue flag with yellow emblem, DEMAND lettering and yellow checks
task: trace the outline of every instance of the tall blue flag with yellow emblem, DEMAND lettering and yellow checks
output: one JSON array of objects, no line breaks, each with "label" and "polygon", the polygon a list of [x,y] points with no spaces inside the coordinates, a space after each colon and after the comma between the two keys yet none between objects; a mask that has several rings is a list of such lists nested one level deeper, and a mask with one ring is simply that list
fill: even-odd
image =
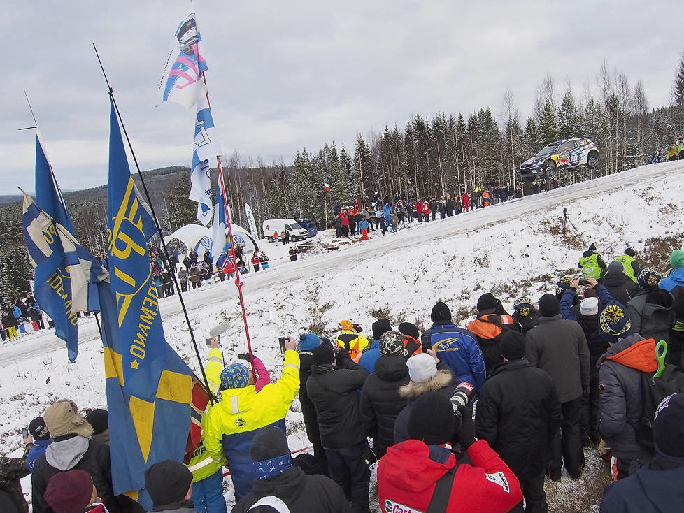
[{"label": "tall blue flag with yellow emblem, DEMAND lettering and yellow checks", "polygon": [[114,104],[109,137],[108,249],[111,290],[99,290],[116,494],[151,509],[144,472],[183,461],[192,371],[164,339],[147,240],[155,226],[131,178]]}]

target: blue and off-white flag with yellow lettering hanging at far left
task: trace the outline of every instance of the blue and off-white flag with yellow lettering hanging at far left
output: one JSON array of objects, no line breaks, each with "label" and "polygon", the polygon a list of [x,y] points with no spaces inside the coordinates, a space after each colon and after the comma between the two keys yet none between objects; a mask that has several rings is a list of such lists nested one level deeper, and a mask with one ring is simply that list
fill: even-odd
[{"label": "blue and off-white flag with yellow lettering hanging at far left", "polygon": [[35,269],[36,301],[55,323],[55,335],[66,341],[69,360],[75,361],[76,312],[99,310],[94,286],[107,280],[108,273],[65,226],[38,208],[26,193],[22,221]]}]

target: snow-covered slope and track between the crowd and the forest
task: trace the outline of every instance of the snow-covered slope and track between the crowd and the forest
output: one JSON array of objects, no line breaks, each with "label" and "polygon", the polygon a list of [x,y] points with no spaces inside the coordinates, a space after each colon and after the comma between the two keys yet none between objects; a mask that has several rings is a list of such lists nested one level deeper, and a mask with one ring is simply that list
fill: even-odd
[{"label": "snow-covered slope and track between the crowd and the forest", "polygon": [[[318,242],[339,249],[320,248],[292,263],[287,257],[276,260],[285,256],[287,246],[263,241],[273,268],[246,276],[243,287],[252,347],[277,378],[279,335],[310,327],[332,335],[341,319],[352,319],[369,332],[376,315],[386,315],[395,328],[411,321],[423,329],[429,327],[436,301],[447,303],[455,318],[466,319],[485,291],[512,310],[519,296],[536,300],[553,291],[559,274],[576,268],[592,242],[609,262],[625,247],[639,252],[647,238],[681,231],[683,172],[678,162],[643,166],[443,221],[438,215],[436,222],[414,223],[385,236],[371,232],[367,242],[340,245],[334,231],[320,233]],[[560,233],[563,208],[572,224],[566,236]],[[183,297],[203,357],[204,337],[228,321],[222,342],[226,361],[235,361],[246,343],[234,284],[211,284]],[[199,370],[178,298],[163,298],[159,304],[166,339]],[[83,408],[106,405],[93,317],[81,319],[79,332],[75,363],[66,359],[64,342],[52,330],[0,345],[1,452],[19,454],[22,427],[55,399],[71,398]],[[287,422],[294,450],[307,440],[297,401],[292,410]],[[27,492],[30,479],[22,484]]]}]

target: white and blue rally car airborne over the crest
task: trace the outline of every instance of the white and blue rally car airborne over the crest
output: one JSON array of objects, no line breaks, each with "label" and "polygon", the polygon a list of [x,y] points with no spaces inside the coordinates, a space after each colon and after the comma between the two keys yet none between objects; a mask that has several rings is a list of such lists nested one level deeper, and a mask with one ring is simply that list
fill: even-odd
[{"label": "white and blue rally car airborne over the crest", "polygon": [[587,166],[590,170],[599,167],[599,149],[591,138],[557,140],[543,147],[531,159],[520,165],[520,178],[532,182],[536,178],[552,180],[558,169]]}]

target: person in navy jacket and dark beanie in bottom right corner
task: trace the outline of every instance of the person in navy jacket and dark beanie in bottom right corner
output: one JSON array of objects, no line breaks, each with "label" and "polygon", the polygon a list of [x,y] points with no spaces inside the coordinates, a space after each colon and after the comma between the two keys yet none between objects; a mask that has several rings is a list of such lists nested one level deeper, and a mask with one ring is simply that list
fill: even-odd
[{"label": "person in navy jacket and dark beanie in bottom right corner", "polygon": [[601,513],[676,512],[684,504],[684,393],[662,400],[653,427],[655,457],[632,476],[607,486]]}]

